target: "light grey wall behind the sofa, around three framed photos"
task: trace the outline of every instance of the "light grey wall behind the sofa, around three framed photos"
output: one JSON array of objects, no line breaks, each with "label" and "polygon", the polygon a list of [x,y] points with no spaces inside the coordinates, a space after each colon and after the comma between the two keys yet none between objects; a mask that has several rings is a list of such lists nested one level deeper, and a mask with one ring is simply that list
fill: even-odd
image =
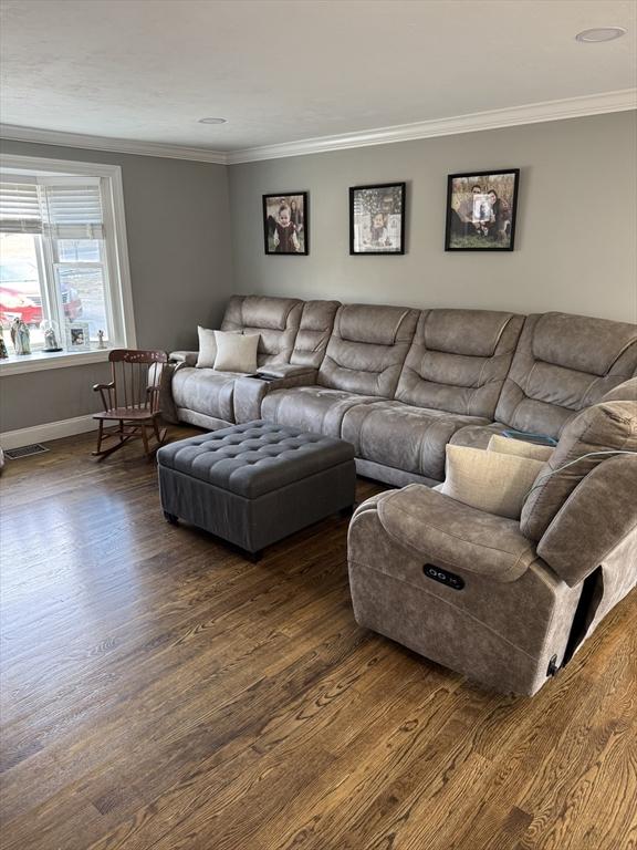
[{"label": "light grey wall behind the sofa, around three framed photos", "polygon": [[[635,321],[635,113],[230,168],[238,292]],[[515,251],[443,251],[447,175],[522,169]],[[407,253],[351,257],[349,186],[407,182]],[[310,191],[310,256],[265,257],[263,193]]]}]

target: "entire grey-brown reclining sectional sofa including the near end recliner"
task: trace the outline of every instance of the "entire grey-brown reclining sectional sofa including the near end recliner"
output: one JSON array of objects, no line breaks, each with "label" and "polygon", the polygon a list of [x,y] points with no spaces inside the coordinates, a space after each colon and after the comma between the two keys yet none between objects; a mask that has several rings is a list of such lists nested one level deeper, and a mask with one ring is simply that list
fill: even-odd
[{"label": "entire grey-brown reclining sectional sofa including the near end recliner", "polygon": [[[361,474],[401,488],[349,525],[362,625],[533,694],[637,582],[636,325],[238,297],[222,328],[258,331],[259,366],[276,377],[176,352],[164,410],[208,428],[263,418],[342,437]],[[434,487],[447,444],[485,448],[505,428],[557,440],[520,519]]]}]

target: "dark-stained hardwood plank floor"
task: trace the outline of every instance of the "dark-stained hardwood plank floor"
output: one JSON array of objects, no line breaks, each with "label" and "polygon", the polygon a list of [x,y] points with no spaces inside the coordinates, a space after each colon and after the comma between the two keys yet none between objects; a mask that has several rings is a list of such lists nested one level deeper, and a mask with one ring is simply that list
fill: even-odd
[{"label": "dark-stained hardwood plank floor", "polygon": [[49,445],[0,479],[2,850],[637,848],[635,593],[500,696],[356,625],[346,519],[254,564],[138,445]]}]

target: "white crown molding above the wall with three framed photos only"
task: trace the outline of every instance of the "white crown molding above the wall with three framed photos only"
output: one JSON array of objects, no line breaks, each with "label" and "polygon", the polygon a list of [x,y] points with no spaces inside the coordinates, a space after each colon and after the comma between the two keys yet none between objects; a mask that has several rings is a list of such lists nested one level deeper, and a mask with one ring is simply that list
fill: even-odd
[{"label": "white crown molding above the wall with three framed photos only", "polygon": [[505,110],[474,112],[451,118],[435,118],[415,124],[399,124],[393,127],[379,127],[362,133],[346,133],[337,136],[320,136],[301,142],[284,142],[280,145],[252,147],[244,151],[231,151],[227,155],[228,165],[253,163],[261,159],[278,159],[285,156],[323,154],[330,151],[346,151],[353,147],[388,145],[396,142],[410,142],[418,138],[451,136],[460,133],[477,133],[482,129],[514,127],[521,124],[540,124],[546,121],[581,118],[587,115],[602,115],[608,112],[626,112],[637,108],[637,89],[624,89],[617,92],[604,92],[584,97],[568,97],[561,101],[531,103],[525,106],[511,106]]}]

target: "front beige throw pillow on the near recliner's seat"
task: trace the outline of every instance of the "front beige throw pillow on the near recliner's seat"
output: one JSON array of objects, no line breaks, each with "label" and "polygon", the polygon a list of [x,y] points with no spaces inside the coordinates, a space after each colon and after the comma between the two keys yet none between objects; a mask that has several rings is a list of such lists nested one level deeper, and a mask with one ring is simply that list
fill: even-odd
[{"label": "front beige throw pillow on the near recliner's seat", "polygon": [[442,493],[487,514],[520,519],[524,500],[543,466],[542,460],[518,455],[447,445]]}]

